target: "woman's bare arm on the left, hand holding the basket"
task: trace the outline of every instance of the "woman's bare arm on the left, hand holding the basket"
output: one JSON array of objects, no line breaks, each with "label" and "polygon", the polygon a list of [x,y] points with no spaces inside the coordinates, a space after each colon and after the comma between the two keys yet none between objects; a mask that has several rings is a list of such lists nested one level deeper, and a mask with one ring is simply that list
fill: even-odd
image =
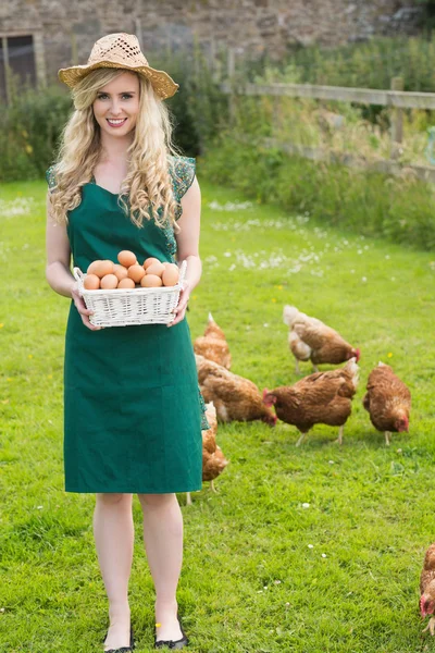
[{"label": "woman's bare arm on the left, hand holding the basket", "polygon": [[94,326],[89,322],[92,311],[86,308],[86,304],[78,293],[77,282],[71,273],[71,248],[65,224],[58,224],[51,218],[50,196],[47,194],[47,266],[46,279],[49,285],[59,295],[74,299],[74,304],[80,313],[83,323],[91,331],[98,331],[100,326]]}]

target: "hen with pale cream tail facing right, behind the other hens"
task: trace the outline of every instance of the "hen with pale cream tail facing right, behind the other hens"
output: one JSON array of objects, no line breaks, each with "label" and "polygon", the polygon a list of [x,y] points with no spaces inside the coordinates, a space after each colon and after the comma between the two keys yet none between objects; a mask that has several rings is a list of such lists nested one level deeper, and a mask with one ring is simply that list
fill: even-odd
[{"label": "hen with pale cream tail facing right, behind the other hens", "polygon": [[359,361],[360,350],[349,345],[339,333],[316,318],[299,312],[295,306],[285,306],[283,319],[290,329],[288,346],[296,358],[298,374],[300,373],[299,360],[311,360],[316,372],[319,364],[339,365],[350,358]]}]

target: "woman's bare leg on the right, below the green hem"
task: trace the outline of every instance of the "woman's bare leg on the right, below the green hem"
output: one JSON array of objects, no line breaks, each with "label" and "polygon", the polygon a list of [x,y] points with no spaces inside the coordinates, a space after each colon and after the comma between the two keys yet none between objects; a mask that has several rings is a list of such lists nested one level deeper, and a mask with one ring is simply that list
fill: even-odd
[{"label": "woman's bare leg on the right, below the green hem", "polygon": [[179,640],[176,589],[183,563],[183,516],[175,494],[138,494],[144,542],[156,587],[158,640]]}]

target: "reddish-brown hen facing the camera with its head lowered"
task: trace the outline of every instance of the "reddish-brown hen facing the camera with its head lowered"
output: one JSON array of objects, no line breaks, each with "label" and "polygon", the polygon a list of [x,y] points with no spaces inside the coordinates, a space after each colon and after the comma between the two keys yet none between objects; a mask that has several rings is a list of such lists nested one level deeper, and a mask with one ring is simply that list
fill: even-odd
[{"label": "reddish-brown hen facing the camera with its head lowered", "polygon": [[383,362],[370,372],[366,390],[362,404],[374,428],[385,433],[388,446],[391,431],[409,430],[411,393],[389,365]]}]

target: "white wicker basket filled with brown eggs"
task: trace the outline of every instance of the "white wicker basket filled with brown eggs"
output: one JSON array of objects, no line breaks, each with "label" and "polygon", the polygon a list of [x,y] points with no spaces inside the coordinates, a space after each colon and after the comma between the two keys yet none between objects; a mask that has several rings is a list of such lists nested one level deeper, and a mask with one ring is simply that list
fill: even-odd
[{"label": "white wicker basket filled with brown eggs", "polygon": [[142,266],[133,251],[117,255],[119,263],[99,260],[90,263],[86,274],[73,269],[86,308],[94,311],[95,326],[130,324],[169,324],[174,320],[187,263],[148,258]]}]

